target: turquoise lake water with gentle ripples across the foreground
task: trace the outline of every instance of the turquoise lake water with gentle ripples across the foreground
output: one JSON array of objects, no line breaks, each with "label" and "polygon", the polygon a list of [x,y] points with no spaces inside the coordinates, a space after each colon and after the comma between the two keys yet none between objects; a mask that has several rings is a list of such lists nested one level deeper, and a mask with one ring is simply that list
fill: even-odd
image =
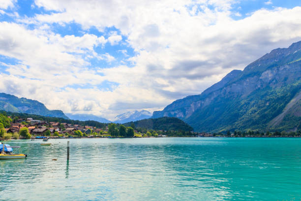
[{"label": "turquoise lake water with gentle ripples across the foreground", "polygon": [[28,158],[0,161],[1,201],[301,200],[301,138],[49,142],[8,142]]}]

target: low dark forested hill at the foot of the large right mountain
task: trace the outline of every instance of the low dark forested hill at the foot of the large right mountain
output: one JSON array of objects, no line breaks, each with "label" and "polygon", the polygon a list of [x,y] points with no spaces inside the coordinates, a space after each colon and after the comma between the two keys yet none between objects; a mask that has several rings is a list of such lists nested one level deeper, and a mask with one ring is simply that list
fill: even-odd
[{"label": "low dark forested hill at the foot of the large right mountain", "polygon": [[135,128],[145,128],[164,131],[193,131],[193,128],[175,117],[161,117],[157,119],[143,119],[135,122],[125,123],[125,126],[135,125]]}]

